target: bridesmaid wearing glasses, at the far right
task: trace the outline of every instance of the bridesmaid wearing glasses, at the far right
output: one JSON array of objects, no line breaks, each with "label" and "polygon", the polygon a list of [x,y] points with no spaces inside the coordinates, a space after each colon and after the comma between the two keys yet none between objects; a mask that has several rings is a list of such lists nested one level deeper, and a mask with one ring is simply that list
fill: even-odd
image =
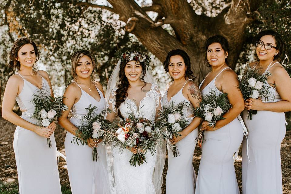
[{"label": "bridesmaid wearing glasses, at the far right", "polygon": [[[283,53],[283,40],[272,30],[260,32],[256,37],[257,62],[249,65],[272,75],[264,85],[271,94],[269,101],[262,98],[248,99],[247,110],[258,110],[252,120],[243,111],[244,122],[249,135],[249,159],[246,156],[246,141],[243,141],[243,193],[282,193],[281,142],[285,137],[285,114],[291,111],[291,79],[279,63]],[[276,87],[275,87],[276,86]]]}]

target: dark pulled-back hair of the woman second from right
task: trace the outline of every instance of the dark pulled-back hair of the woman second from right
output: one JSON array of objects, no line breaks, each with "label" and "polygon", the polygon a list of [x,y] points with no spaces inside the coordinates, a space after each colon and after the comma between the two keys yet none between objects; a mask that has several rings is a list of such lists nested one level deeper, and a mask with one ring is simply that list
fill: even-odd
[{"label": "dark pulled-back hair of the woman second from right", "polygon": [[[205,64],[208,65],[208,67],[210,67],[211,65],[209,64],[209,62],[207,60],[207,49],[208,49],[208,46],[213,44],[213,43],[219,43],[221,45],[222,49],[224,50],[224,53],[228,52],[228,55],[229,55],[229,45],[228,45],[228,41],[226,40],[226,38],[224,38],[221,35],[211,36],[210,38],[208,38],[206,40],[206,43],[205,43]],[[229,65],[227,58],[225,59],[225,63],[227,65]]]}]

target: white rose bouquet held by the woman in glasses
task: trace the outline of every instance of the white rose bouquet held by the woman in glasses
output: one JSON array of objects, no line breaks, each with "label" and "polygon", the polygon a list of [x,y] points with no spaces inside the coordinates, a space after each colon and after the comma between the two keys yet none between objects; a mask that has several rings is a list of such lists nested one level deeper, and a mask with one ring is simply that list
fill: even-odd
[{"label": "white rose bouquet held by the woman in glasses", "polygon": [[[243,93],[243,99],[265,97],[266,100],[269,100],[268,95],[271,94],[269,91],[271,86],[263,84],[266,83],[269,75],[271,75],[270,72],[260,74],[259,69],[248,65],[239,79],[239,89]],[[256,110],[249,110],[247,119],[252,120],[252,115],[256,113]]]}]

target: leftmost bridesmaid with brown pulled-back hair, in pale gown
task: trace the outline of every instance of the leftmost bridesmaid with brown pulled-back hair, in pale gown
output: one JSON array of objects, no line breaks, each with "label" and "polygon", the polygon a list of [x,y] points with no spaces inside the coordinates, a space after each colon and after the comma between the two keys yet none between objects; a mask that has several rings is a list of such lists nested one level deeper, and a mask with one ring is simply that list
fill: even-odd
[{"label": "leftmost bridesmaid with brown pulled-back hair, in pale gown", "polygon": [[[9,66],[18,72],[6,84],[2,103],[4,119],[17,125],[13,148],[18,173],[20,194],[61,193],[59,170],[56,159],[55,122],[48,127],[36,126],[31,119],[35,105],[31,102],[37,89],[53,96],[49,75],[36,71],[35,62],[39,59],[37,46],[29,38],[15,41],[9,54]],[[13,112],[15,100],[22,112]],[[50,137],[52,148],[47,145]]]}]

